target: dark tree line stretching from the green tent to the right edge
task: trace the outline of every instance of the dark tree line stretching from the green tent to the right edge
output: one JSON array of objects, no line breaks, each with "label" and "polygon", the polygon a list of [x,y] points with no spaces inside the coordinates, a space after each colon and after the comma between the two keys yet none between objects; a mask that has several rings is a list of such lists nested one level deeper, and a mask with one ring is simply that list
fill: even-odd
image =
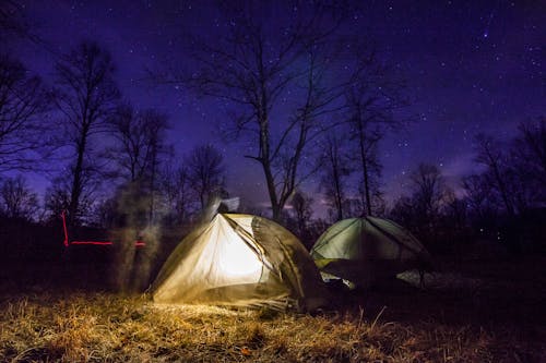
[{"label": "dark tree line stretching from the green tent to the right edge", "polygon": [[473,154],[482,172],[464,176],[456,193],[440,169],[422,164],[390,216],[439,251],[488,240],[507,253],[544,252],[545,152],[545,117],[522,121],[507,142],[478,134]]}]

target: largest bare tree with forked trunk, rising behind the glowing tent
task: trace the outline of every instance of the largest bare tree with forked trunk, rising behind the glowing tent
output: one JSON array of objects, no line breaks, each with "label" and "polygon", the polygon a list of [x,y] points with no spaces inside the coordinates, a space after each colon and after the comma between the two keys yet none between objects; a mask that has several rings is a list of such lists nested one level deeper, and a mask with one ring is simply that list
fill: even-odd
[{"label": "largest bare tree with forked trunk, rising behind the glowing tent", "polygon": [[261,7],[233,7],[226,16],[230,25],[214,44],[193,39],[197,70],[174,82],[233,106],[229,131],[254,143],[254,153],[246,157],[261,166],[273,218],[278,219],[312,171],[302,165],[324,130],[319,121],[341,107],[347,80],[327,72],[336,56],[328,53],[335,47],[325,46],[334,40],[341,7],[301,4],[290,8],[294,16],[287,23],[275,24],[263,21],[263,12],[254,8]]}]

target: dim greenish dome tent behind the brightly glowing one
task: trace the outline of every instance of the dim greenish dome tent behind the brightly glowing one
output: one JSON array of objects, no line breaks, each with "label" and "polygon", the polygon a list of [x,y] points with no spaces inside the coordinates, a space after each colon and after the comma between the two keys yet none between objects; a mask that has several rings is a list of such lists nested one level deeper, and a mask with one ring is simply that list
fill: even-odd
[{"label": "dim greenish dome tent behind the brightly glowing one", "polygon": [[411,268],[427,266],[430,256],[403,227],[388,219],[344,219],[314,243],[311,257],[322,278],[349,287],[369,287]]}]

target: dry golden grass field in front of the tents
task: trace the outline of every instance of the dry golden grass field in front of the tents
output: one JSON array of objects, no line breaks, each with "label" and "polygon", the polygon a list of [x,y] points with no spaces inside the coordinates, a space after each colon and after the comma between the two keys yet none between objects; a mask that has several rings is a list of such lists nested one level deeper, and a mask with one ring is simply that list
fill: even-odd
[{"label": "dry golden grass field in front of the tents", "polygon": [[11,285],[0,295],[0,361],[546,362],[545,266],[446,265],[425,290],[332,291],[312,315]]}]

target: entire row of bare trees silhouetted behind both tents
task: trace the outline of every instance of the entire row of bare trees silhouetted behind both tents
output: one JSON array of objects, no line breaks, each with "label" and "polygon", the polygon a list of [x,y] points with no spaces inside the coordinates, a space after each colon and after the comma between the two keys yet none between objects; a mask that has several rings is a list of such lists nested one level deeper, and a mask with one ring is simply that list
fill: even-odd
[{"label": "entire row of bare trees silhouetted behind both tents", "polygon": [[[2,7],[2,39],[39,41],[14,2]],[[490,234],[505,220],[517,226],[544,208],[544,117],[522,122],[509,145],[477,135],[476,162],[484,171],[455,190],[437,167],[418,166],[408,194],[389,208],[380,144],[412,123],[411,100],[400,70],[372,39],[347,26],[351,7],[300,4],[289,9],[292,16],[272,22],[251,2],[218,5],[225,23],[214,41],[188,29],[187,69],[150,70],[149,76],[225,106],[222,132],[250,145],[245,157],[261,169],[272,218],[308,240],[323,229],[312,220],[311,177],[318,177],[328,207],[321,226],[388,216],[428,244],[447,239],[446,231],[451,239],[471,230]],[[4,217],[47,222],[68,210],[71,225],[109,228],[128,208],[120,201],[129,193],[138,196],[147,223],[176,225],[199,215],[213,196],[228,195],[222,153],[205,144],[173,161],[176,145],[166,137],[171,120],[123,99],[105,47],[83,41],[58,55],[52,69],[55,87],[48,87],[10,52],[0,55]],[[44,206],[23,177],[7,177],[13,170],[49,177]]]}]

